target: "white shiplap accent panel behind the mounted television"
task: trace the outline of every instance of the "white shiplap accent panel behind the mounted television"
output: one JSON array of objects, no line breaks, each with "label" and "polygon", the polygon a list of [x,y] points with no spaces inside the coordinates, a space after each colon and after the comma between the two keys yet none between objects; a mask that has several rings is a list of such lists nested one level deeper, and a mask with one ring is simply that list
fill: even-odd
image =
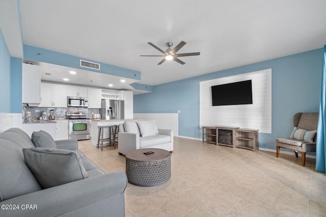
[{"label": "white shiplap accent panel behind the mounted television", "polygon": [[[211,86],[252,80],[253,104],[212,106]],[[200,127],[230,126],[271,133],[271,69],[200,82]]]}]

